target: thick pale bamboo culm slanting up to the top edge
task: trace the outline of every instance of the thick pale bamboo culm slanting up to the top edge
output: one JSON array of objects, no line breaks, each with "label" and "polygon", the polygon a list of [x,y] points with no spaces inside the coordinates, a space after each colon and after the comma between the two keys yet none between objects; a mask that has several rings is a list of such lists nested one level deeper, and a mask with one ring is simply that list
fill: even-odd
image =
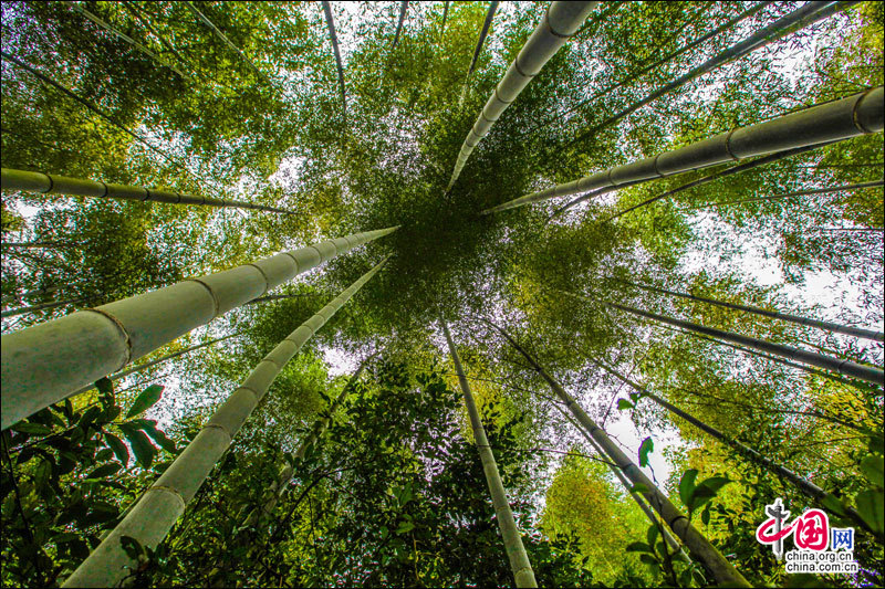
[{"label": "thick pale bamboo culm slanting up to the top edge", "polygon": [[562,45],[581,28],[587,14],[598,2],[562,2],[555,1],[544,13],[541,24],[534,30],[525,44],[520,50],[517,59],[510,64],[501,82],[496,86],[473,128],[467,134],[461,145],[455,169],[451,172],[448,188],[450,190],[458,180],[467,158],[489,129],[498,120],[517,96],[529,85],[532,77],[538,75],[544,64],[560,50]]}]

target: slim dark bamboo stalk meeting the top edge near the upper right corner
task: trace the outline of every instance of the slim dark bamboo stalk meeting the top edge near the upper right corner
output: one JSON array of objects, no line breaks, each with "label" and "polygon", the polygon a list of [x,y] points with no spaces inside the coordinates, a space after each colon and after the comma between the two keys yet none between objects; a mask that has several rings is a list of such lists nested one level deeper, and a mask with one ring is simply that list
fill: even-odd
[{"label": "slim dark bamboo stalk meeting the top edge near the upper right corner", "polygon": [[577,135],[574,139],[565,144],[563,147],[569,147],[582,139],[591,137],[592,135],[596,134],[601,129],[608,127],[624,118],[625,116],[635,113],[643,106],[647,105],[648,103],[659,98],[660,96],[687,84],[688,82],[695,80],[696,77],[711,72],[712,70],[725,65],[731,61],[740,59],[749,53],[756,51],[757,49],[771,43],[778,39],[785,36],[791,31],[796,29],[801,29],[818,22],[820,20],[825,19],[826,17],[832,15],[840,10],[843,10],[851,4],[856,2],[806,2],[802,7],[798,8],[793,12],[787,14],[785,17],[781,17],[777,21],[772,22],[761,31],[758,31],[750,35],[749,38],[745,39],[743,41],[738,42],[737,44],[728,48],[727,50],[722,51],[721,53],[710,57],[706,62],[701,63],[697,67],[691,69],[689,72],[683,74],[678,78],[674,80],[669,84],[656,90],[645,98],[635,102],[624,108],[623,111],[612,115],[611,117],[606,118],[598,125],[594,125],[590,129],[582,132]]}]

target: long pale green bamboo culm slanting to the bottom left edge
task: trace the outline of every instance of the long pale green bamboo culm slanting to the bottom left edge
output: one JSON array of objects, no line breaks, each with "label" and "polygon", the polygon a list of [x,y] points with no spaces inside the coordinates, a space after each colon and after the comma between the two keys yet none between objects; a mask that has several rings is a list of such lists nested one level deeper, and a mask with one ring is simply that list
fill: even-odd
[{"label": "long pale green bamboo culm slanting to the bottom left edge", "polygon": [[123,536],[135,538],[142,546],[152,548],[163,541],[285,364],[386,261],[387,259],[383,260],[363,274],[264,356],[242,385],[218,408],[194,441],[62,587],[116,587],[128,574],[128,569],[124,567],[134,565],[123,549]]}]

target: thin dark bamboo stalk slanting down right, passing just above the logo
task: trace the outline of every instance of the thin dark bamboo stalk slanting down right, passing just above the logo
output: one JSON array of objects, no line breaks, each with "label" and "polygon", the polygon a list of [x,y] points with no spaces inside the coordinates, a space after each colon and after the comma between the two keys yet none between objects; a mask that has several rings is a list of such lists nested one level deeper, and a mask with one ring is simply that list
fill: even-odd
[{"label": "thin dark bamboo stalk slanting down right, passing just above the logo", "polygon": [[[655,403],[657,403],[658,406],[663,407],[664,409],[666,409],[667,411],[669,411],[674,416],[677,416],[677,417],[686,420],[688,423],[693,424],[694,427],[696,427],[700,431],[711,435],[718,442],[720,442],[720,443],[722,443],[722,444],[725,444],[725,445],[727,445],[729,448],[735,449],[739,454],[746,456],[751,462],[754,462],[756,464],[759,464],[760,466],[762,466],[763,469],[766,469],[770,473],[774,474],[775,476],[782,478],[783,481],[788,481],[790,484],[792,484],[794,487],[796,487],[803,494],[805,494],[809,497],[811,497],[812,499],[814,499],[821,507],[824,507],[825,509],[832,511],[831,505],[840,505],[840,501],[834,495],[827,493],[826,491],[824,491],[823,488],[819,487],[818,485],[815,485],[811,481],[809,481],[806,478],[803,478],[802,476],[799,476],[796,473],[790,471],[789,469],[785,469],[784,466],[781,466],[780,464],[778,464],[773,460],[771,460],[771,459],[769,459],[767,456],[763,456],[762,454],[760,454],[759,452],[757,452],[752,448],[750,448],[750,446],[748,446],[748,445],[735,440],[733,438],[731,438],[729,435],[726,435],[725,433],[720,432],[719,430],[717,430],[712,425],[708,425],[707,423],[700,421],[699,419],[697,419],[696,417],[691,416],[690,413],[687,413],[687,412],[683,411],[681,409],[679,409],[678,407],[674,406],[673,403],[670,403],[670,402],[662,399],[657,395],[653,393],[647,388],[645,388],[645,387],[641,386],[639,383],[634,382],[629,378],[623,376],[622,374],[620,374],[614,368],[610,368],[608,366],[604,365],[603,362],[601,362],[598,360],[593,360],[593,361],[594,361],[594,364],[596,364],[596,366],[600,366],[605,371],[607,371],[610,375],[614,376],[615,378],[617,378],[618,380],[621,380],[625,385],[628,385],[631,388],[633,388],[636,392],[641,393],[643,397],[647,397],[648,399],[653,400]],[[843,507],[843,511],[844,511],[845,515],[847,517],[850,517],[851,520],[854,522],[857,526],[860,526],[861,528],[865,529],[866,532],[875,535],[873,529],[864,520],[864,518],[861,517],[861,514],[858,514],[856,509],[854,509],[853,507]],[[878,541],[881,543],[882,541],[882,535],[879,534],[877,537],[878,537]]]}]

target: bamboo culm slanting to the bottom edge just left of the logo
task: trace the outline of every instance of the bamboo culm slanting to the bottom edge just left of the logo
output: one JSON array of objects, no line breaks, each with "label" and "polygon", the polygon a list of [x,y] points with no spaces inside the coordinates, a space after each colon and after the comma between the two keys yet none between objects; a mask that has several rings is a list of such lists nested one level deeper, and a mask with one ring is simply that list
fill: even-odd
[{"label": "bamboo culm slanting to the bottom edge just left of the logo", "polygon": [[634,486],[639,486],[642,490],[641,493],[648,504],[654,507],[664,522],[667,523],[674,534],[683,540],[683,544],[696,556],[696,559],[710,570],[716,582],[729,587],[750,587],[750,583],[738,572],[733,565],[726,560],[722,554],[691,525],[688,518],[676,508],[673,502],[670,502],[639,467],[627,457],[624,451],[621,450],[621,448],[608,438],[608,434],[584,412],[572,396],[565,392],[565,389],[538,364],[534,357],[525,351],[525,349],[501,327],[488,320],[486,320],[486,323],[498,329],[510,345],[525,358],[532,368],[534,368],[535,372],[546,381],[550,389],[565,403],[565,407],[572,412],[577,422],[586,429],[587,433],[593,437],[596,444],[605,452],[608,459],[617,464],[621,472],[624,473],[624,476],[629,478]]}]

